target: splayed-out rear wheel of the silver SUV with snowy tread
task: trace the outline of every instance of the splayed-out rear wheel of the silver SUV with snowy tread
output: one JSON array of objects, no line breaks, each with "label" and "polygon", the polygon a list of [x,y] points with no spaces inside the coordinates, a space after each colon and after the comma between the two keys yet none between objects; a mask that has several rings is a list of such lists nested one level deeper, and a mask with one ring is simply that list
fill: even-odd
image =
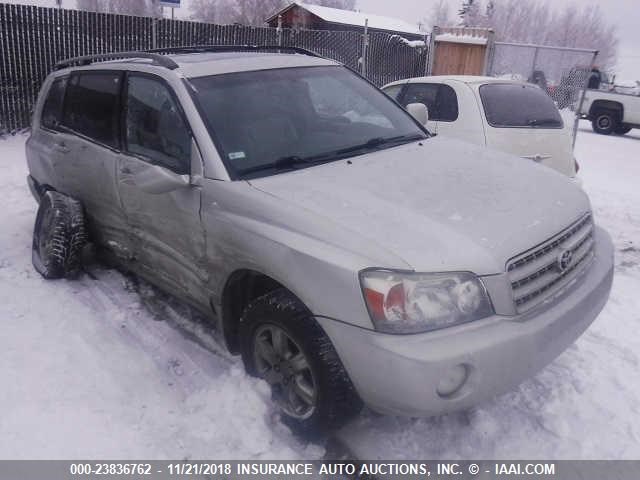
[{"label": "splayed-out rear wheel of the silver SUV with snowy tread", "polygon": [[75,277],[87,241],[82,206],[58,192],[40,200],[33,228],[31,260],[44,278]]}]

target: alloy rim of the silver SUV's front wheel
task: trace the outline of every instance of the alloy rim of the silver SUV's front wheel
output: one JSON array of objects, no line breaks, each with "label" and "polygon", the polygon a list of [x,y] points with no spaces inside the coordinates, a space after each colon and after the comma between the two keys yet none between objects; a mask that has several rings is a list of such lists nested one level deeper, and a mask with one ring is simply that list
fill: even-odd
[{"label": "alloy rim of the silver SUV's front wheel", "polygon": [[313,415],[318,397],[313,372],[300,346],[282,328],[266,324],[256,330],[253,358],[258,375],[287,415],[301,420]]}]

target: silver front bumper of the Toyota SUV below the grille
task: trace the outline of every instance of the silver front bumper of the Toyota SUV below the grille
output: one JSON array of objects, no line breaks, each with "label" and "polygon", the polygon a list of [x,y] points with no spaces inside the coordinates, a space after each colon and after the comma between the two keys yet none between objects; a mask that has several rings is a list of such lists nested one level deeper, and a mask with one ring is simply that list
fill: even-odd
[{"label": "silver front bumper of the Toyota SUV below the grille", "polygon": [[[611,238],[596,228],[596,257],[584,275],[554,300],[523,315],[494,315],[415,335],[388,335],[317,320],[370,408],[431,416],[468,408],[533,376],[595,320],[612,281]],[[438,393],[441,382],[460,368],[466,372],[462,386],[449,395]]]}]

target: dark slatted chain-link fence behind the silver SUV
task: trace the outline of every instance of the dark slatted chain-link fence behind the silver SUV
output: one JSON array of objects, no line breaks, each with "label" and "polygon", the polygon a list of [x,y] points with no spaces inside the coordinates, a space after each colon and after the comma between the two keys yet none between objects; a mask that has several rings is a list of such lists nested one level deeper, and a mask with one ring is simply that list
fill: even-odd
[{"label": "dark slatted chain-link fence behind the silver SUV", "polygon": [[[411,40],[422,38],[415,36]],[[427,49],[384,33],[290,30],[151,19],[0,3],[0,133],[26,128],[40,85],[59,60],[186,45],[282,45],[312,50],[374,84],[423,75]],[[428,42],[424,42],[428,45]]]}]

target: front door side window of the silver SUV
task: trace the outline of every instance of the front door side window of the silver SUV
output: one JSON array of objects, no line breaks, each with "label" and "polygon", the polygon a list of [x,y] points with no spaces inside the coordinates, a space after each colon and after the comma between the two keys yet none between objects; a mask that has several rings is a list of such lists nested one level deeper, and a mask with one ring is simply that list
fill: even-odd
[{"label": "front door side window of the silver SUV", "polygon": [[130,75],[125,108],[127,151],[189,173],[191,134],[169,89],[158,80]]}]

